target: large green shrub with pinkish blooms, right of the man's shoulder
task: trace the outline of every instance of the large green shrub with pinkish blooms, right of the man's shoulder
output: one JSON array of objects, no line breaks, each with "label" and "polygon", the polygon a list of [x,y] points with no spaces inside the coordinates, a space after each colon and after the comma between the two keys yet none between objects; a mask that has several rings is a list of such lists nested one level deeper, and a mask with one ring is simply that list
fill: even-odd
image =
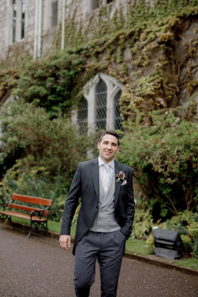
[{"label": "large green shrub with pinkish blooms, right of the man's shoulder", "polygon": [[166,110],[150,113],[151,126],[127,126],[119,160],[134,168],[134,176],[149,199],[154,220],[180,210],[195,210],[198,201],[197,124]]}]

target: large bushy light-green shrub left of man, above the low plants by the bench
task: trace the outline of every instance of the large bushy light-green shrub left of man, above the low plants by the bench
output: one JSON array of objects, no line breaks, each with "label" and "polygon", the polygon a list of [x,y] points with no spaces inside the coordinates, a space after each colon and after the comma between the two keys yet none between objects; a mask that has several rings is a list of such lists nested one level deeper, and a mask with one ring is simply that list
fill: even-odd
[{"label": "large bushy light-green shrub left of man, above the low plants by the bench", "polygon": [[44,108],[33,103],[14,101],[1,114],[1,163],[20,152],[20,159],[10,169],[15,177],[34,167],[49,176],[61,174],[70,185],[77,163],[87,157],[87,136],[80,135],[70,119],[59,114],[50,120]]}]

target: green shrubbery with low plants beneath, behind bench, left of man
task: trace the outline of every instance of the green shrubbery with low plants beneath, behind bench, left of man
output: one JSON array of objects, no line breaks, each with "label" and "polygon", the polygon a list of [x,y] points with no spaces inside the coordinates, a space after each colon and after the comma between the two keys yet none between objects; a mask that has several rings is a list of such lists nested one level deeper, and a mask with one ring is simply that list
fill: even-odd
[{"label": "green shrubbery with low plants beneath, behind bench, left of man", "polygon": [[77,164],[87,159],[92,144],[70,119],[61,114],[50,119],[33,103],[5,104],[1,120],[1,196],[8,199],[17,192],[51,198],[50,216],[58,220]]}]

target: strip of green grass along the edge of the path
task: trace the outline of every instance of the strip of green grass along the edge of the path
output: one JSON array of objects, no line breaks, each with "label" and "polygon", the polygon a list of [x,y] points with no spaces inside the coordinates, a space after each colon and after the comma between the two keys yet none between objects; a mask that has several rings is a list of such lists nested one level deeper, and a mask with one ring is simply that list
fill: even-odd
[{"label": "strip of green grass along the edge of the path", "polygon": [[[27,225],[27,226],[30,225],[30,221],[25,220],[25,219],[19,219],[19,218],[12,217],[12,221],[19,223],[19,224]],[[49,231],[59,234],[60,233],[60,225],[61,225],[60,222],[48,220]],[[74,237],[74,235],[75,235],[75,230],[76,230],[76,225],[72,224],[71,225],[71,236],[72,237]],[[132,239],[132,238],[129,238],[129,240],[127,240],[127,242],[126,242],[126,251],[144,255],[144,256],[153,254],[153,248],[151,246],[147,245],[144,240]],[[183,258],[181,260],[175,260],[174,264],[198,270],[198,259],[195,259],[195,258],[189,258],[189,259]]]}]

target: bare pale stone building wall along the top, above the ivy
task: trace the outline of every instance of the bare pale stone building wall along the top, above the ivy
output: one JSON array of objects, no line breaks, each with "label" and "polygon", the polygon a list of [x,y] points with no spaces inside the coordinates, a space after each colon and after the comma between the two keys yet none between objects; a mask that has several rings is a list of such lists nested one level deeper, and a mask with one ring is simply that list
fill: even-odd
[{"label": "bare pale stone building wall along the top, above the ivy", "polygon": [[[97,15],[101,5],[127,10],[127,0],[1,0],[0,1],[0,59],[16,45],[27,47],[36,57],[52,51],[59,27],[76,11],[76,21]],[[63,38],[63,37],[62,37]]]}]

